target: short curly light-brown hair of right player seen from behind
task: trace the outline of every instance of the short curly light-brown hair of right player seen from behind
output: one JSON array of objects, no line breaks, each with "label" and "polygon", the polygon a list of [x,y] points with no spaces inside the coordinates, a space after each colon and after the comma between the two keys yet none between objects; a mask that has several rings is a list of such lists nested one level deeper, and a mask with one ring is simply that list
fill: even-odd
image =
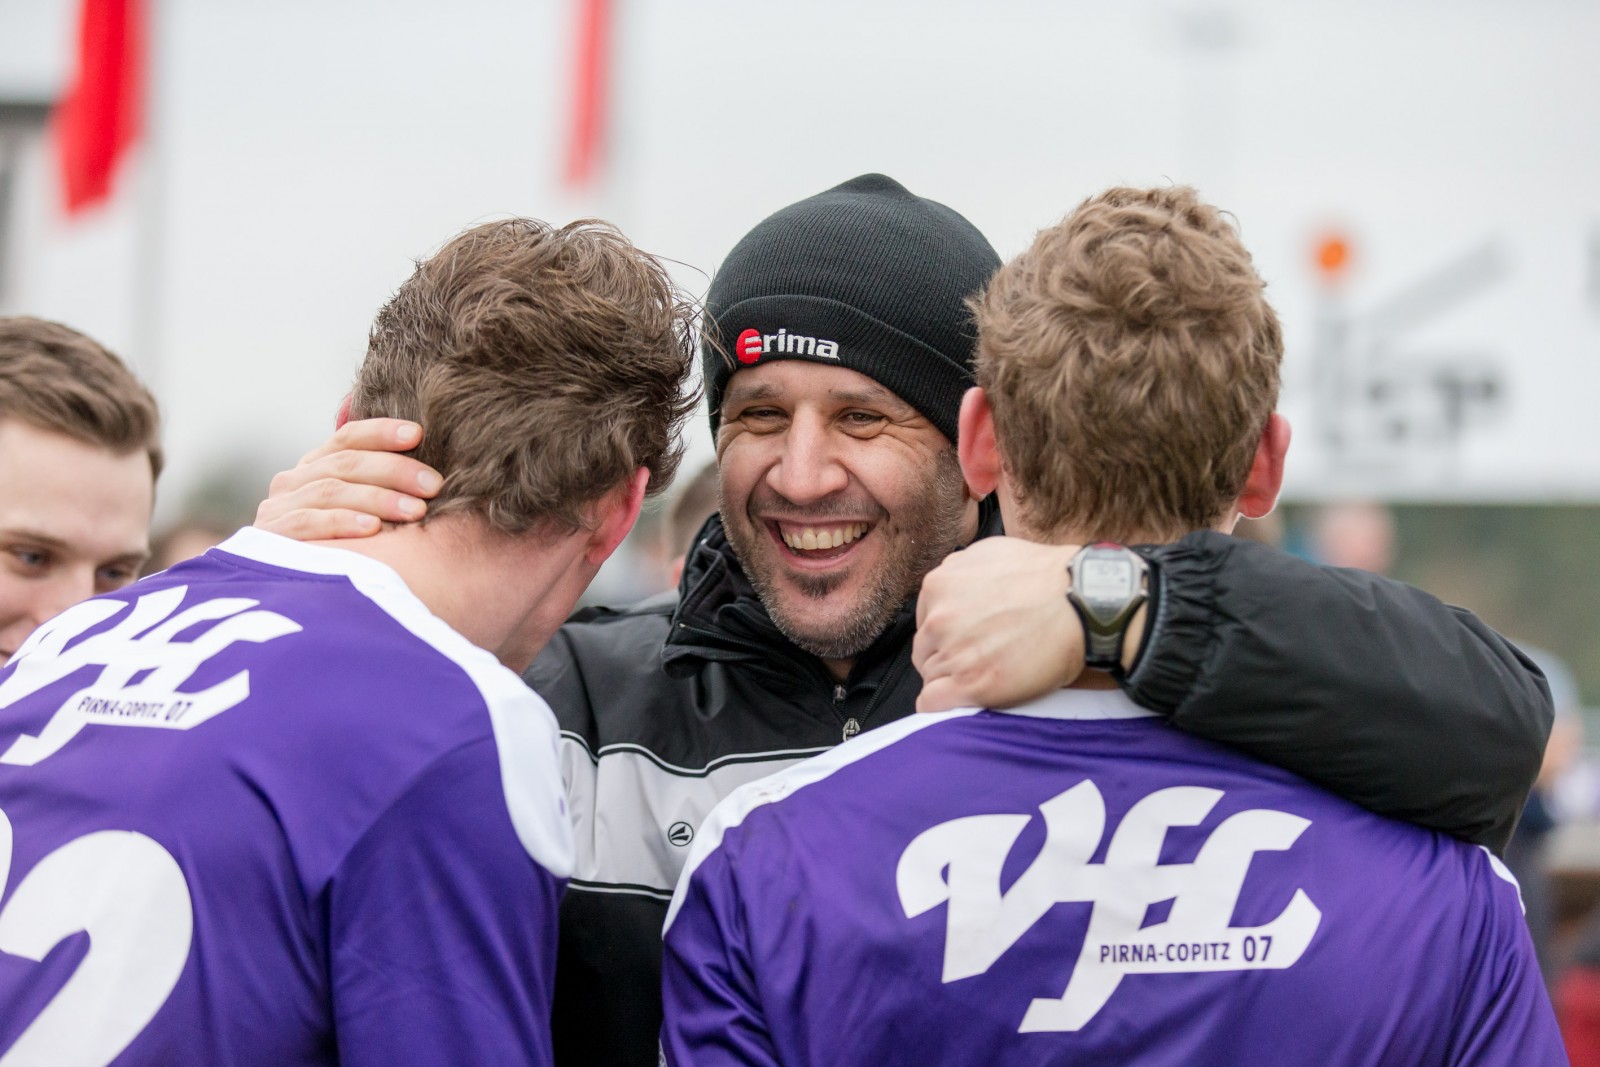
[{"label": "short curly light-brown hair of right player seen from behind", "polygon": [[973,301],[978,384],[1029,525],[1125,541],[1224,517],[1277,406],[1283,334],[1194,189],[1110,189]]}]

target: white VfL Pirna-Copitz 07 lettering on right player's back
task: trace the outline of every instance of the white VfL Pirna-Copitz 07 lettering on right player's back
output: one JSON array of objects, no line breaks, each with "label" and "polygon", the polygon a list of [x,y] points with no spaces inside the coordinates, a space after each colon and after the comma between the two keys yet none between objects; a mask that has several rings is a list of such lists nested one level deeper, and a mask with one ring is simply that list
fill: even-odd
[{"label": "white VfL Pirna-Copitz 07 lettering on right player's back", "polygon": [[[1288,849],[1310,822],[1283,811],[1226,819],[1194,862],[1158,862],[1170,827],[1197,825],[1219,789],[1182,785],[1150,793],[1117,827],[1106,861],[1090,857],[1106,832],[1106,801],[1083,781],[1040,805],[1045,845],[1005,893],[1000,870],[1029,824],[1026,814],[952,819],[922,832],[901,854],[901,907],[915,918],[947,904],[946,982],[986,973],[1056,904],[1093,904],[1083,949],[1059,1000],[1034,1000],[1021,1033],[1082,1030],[1125,974],[1259,971],[1293,966],[1322,923],[1302,889],[1270,923],[1229,926],[1250,861]],[[1165,921],[1141,928],[1152,904],[1171,901]]]}]

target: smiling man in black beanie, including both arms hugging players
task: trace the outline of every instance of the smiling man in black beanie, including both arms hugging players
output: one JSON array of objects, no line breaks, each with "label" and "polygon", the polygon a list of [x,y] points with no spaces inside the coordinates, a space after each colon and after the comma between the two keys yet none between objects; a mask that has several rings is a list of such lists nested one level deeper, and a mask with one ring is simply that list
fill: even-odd
[{"label": "smiling man in black beanie, including both arms hugging players", "polygon": [[[963,301],[998,262],[965,218],[869,174],[757,224],[712,278],[701,365],[720,514],[675,603],[586,609],[525,673],[562,721],[578,835],[560,1062],[656,1062],[667,902],[733,789],[901,720],[930,691],[1018,702],[1082,672],[1070,552],[1000,537],[955,454],[973,384]],[[258,523],[331,537],[414,517],[430,472],[373,451],[413,443],[347,424],[274,478]],[[930,675],[912,637],[941,558],[957,577],[934,582]],[[960,577],[974,561],[982,577]],[[1504,846],[1549,697],[1488,627],[1222,534],[1155,547],[1149,565],[1157,603],[1130,624],[1118,672],[1136,702],[1382,813]]]}]

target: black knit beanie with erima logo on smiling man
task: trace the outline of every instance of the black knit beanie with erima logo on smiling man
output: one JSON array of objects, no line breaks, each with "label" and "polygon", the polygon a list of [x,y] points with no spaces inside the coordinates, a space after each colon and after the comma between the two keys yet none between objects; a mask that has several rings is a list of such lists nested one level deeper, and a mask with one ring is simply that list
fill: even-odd
[{"label": "black knit beanie with erima logo on smiling man", "polygon": [[768,216],[706,294],[710,432],[736,370],[834,363],[883,384],[955,442],[973,386],[963,302],[1000,267],[978,229],[893,178],[862,174]]}]

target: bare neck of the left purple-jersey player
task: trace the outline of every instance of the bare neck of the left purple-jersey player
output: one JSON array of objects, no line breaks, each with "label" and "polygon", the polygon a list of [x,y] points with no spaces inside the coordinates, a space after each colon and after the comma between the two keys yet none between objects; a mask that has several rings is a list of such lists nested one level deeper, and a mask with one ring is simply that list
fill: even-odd
[{"label": "bare neck of the left purple-jersey player", "polygon": [[579,541],[510,537],[470,515],[318,544],[392,566],[429,611],[517,672],[533,662],[594,577]]}]

